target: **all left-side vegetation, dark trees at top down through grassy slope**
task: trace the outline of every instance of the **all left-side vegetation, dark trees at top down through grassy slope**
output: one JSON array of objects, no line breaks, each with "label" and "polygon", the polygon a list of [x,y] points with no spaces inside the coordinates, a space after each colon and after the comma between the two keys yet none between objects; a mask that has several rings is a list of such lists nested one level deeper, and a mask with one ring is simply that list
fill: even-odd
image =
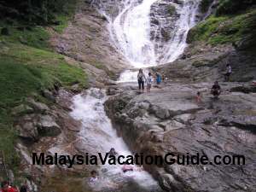
[{"label": "all left-side vegetation, dark trees at top down through grassy slope", "polygon": [[[36,1],[0,1],[1,10],[8,8],[0,14],[0,151],[4,151],[7,166],[14,171],[19,165],[19,158],[15,152],[17,136],[13,127],[12,108],[24,102],[27,96],[45,101],[42,91],[53,90],[55,86],[68,89],[73,84],[79,84],[80,88],[87,87],[86,73],[81,68],[68,64],[63,55],[55,53],[50,47],[49,30],[45,26],[32,25],[49,25],[51,21],[61,18],[62,24],[50,26],[61,32],[72,13],[67,11],[67,14],[64,9],[75,3],[69,6],[66,3],[70,4],[70,1],[52,1],[62,2],[60,6],[63,7],[55,7],[60,10],[57,14],[54,14],[55,9],[48,9],[46,19],[42,12],[47,8],[43,6],[45,2],[51,1],[37,1],[38,4],[43,3],[40,6]],[[22,7],[26,3],[39,7],[33,7],[32,12],[27,15],[27,9]],[[8,17],[3,19],[3,15]]]}]

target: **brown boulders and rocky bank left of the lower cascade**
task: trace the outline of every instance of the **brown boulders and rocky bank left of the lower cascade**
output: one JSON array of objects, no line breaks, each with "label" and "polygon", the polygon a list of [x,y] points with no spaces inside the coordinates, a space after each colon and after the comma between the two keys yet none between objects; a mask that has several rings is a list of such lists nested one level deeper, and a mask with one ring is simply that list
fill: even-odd
[{"label": "brown boulders and rocky bank left of the lower cascade", "polygon": [[[16,119],[15,130],[19,136],[16,145],[20,154],[19,172],[20,174],[26,172],[27,183],[32,185],[30,189],[32,192],[55,190],[42,189],[46,186],[45,183],[48,183],[48,179],[54,175],[61,175],[63,172],[67,174],[75,172],[77,175],[81,175],[88,170],[88,167],[85,166],[73,166],[72,169],[67,170],[64,166],[32,165],[32,153],[79,154],[73,147],[73,143],[77,142],[76,136],[80,131],[81,123],[69,114],[74,94],[59,89],[55,90],[55,94],[50,93],[50,95],[54,96],[53,100],[50,98],[47,100],[51,103],[50,105],[27,98],[24,104],[12,111]],[[60,181],[58,182],[60,183]]]}]

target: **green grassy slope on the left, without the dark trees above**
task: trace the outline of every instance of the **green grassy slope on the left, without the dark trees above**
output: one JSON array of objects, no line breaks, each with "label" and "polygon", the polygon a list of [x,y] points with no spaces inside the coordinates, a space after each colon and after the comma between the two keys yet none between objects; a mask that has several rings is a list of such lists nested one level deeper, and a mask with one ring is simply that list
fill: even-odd
[{"label": "green grassy slope on the left, without the dark trees above", "polygon": [[15,39],[9,37],[0,43],[0,150],[13,170],[18,169],[19,159],[15,153],[17,136],[11,108],[20,105],[27,96],[42,97],[41,90],[54,89],[55,84],[67,89],[73,84],[79,84],[81,89],[87,87],[86,73],[69,65],[63,55],[44,46],[44,49],[35,48],[34,41],[29,41],[32,47],[14,43]]}]

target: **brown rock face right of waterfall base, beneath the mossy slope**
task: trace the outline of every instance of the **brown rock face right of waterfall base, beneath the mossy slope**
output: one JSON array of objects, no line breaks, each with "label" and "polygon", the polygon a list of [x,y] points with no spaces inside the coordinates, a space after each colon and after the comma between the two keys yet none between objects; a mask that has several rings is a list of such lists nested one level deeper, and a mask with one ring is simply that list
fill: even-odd
[{"label": "brown rock face right of waterfall base, beneath the mossy slope", "polygon": [[209,82],[224,79],[227,63],[232,67],[231,81],[247,82],[256,79],[255,56],[237,50],[231,44],[190,44],[179,60],[154,67],[153,70],[173,81]]}]

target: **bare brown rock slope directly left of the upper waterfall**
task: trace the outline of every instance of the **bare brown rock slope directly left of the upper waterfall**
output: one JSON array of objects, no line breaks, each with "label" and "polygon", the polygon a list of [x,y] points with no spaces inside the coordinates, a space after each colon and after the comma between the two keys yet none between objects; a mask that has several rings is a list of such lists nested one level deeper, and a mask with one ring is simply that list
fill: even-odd
[{"label": "bare brown rock slope directly left of the upper waterfall", "polygon": [[82,67],[103,73],[99,77],[113,78],[124,69],[125,60],[109,41],[108,20],[97,12],[96,2],[79,3],[73,21],[50,42],[59,53],[82,62]]}]

